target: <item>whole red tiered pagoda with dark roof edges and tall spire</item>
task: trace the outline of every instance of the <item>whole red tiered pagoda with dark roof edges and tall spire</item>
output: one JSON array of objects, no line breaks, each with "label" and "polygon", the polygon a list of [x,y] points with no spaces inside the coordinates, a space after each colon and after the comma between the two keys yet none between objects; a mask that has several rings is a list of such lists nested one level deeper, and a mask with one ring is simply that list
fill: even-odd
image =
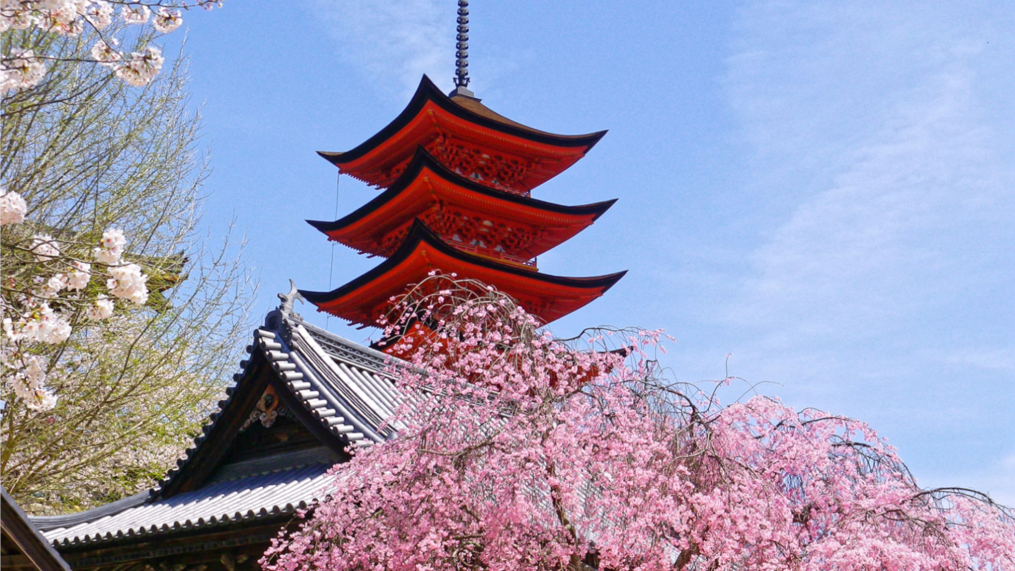
[{"label": "whole red tiered pagoda with dark roof edges and tall spire", "polygon": [[563,206],[532,190],[585,156],[605,131],[557,135],[506,119],[467,86],[468,3],[459,2],[456,88],[425,75],[405,110],[345,152],[320,154],[383,192],[335,221],[308,220],[329,240],[386,261],[332,292],[300,292],[319,311],[376,326],[391,298],[432,270],[495,287],[549,323],[609,290],[625,272],[561,277],[536,256],[592,225],[615,200]]}]

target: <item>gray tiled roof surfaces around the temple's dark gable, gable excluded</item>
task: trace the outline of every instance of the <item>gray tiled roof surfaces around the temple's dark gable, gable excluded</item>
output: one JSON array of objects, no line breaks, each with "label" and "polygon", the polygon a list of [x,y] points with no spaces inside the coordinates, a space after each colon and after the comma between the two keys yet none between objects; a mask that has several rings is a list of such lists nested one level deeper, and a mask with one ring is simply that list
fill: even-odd
[{"label": "gray tiled roof surfaces around the temple's dark gable, gable excluded", "polygon": [[[261,352],[338,444],[369,446],[394,436],[397,427],[385,423],[400,396],[384,372],[391,359],[387,355],[278,310],[269,313],[265,326],[254,331],[248,351],[252,356]],[[234,380],[245,378],[252,361],[241,362],[243,371]],[[221,409],[228,406],[232,392],[232,388],[226,390],[230,397],[219,401]],[[194,440],[195,446],[187,450],[186,457],[178,460],[178,468],[170,470],[148,494],[32,521],[55,545],[68,546],[269,517],[306,507],[319,497],[325,471],[334,463],[323,448],[225,464],[193,492],[159,497],[159,490],[165,490],[197,454],[219,417],[218,413],[212,415],[212,423],[205,425],[204,434]]]}]

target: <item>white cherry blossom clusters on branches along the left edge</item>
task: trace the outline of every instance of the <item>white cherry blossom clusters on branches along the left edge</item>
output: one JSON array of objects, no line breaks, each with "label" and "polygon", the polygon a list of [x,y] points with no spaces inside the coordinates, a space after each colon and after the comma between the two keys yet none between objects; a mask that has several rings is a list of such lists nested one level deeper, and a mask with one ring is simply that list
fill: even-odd
[{"label": "white cherry blossom clusters on branches along the left edge", "polygon": [[[68,101],[67,93],[52,101],[39,97],[40,92],[52,92],[51,88],[30,90],[54,64],[65,72],[68,64],[97,64],[130,85],[148,84],[164,63],[161,51],[148,45],[154,35],[180,27],[182,9],[219,5],[219,0],[0,0],[0,33],[4,34],[0,94],[4,96],[5,122],[16,122],[25,111],[25,102],[43,106]],[[120,41],[115,36],[131,27],[140,28],[134,35],[139,51],[127,54],[116,48]],[[61,41],[75,38],[91,43],[89,55],[81,54],[82,42]],[[55,82],[67,83],[64,77]],[[83,82],[72,97],[87,96],[100,83]],[[27,211],[20,192],[0,187],[0,226],[23,223]],[[43,358],[31,355],[29,347],[66,341],[72,330],[70,315],[82,314],[93,320],[109,318],[116,298],[143,306],[148,300],[148,276],[138,264],[122,259],[127,239],[116,228],[106,229],[101,238],[91,236],[98,245],[83,243],[80,237],[60,240],[51,234],[26,235],[12,228],[4,237],[4,255],[8,259],[0,299],[4,333],[0,361],[16,371],[7,381],[18,400],[32,410],[50,410],[57,397],[46,387],[48,367]],[[106,289],[92,287],[92,276]]]}]

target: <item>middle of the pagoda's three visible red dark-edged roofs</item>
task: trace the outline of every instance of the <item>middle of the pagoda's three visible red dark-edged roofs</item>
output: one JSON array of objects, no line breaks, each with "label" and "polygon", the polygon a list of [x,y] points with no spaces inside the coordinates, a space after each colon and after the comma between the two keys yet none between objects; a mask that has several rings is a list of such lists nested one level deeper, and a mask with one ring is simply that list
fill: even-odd
[{"label": "middle of the pagoda's three visible red dark-edged roofs", "polygon": [[564,206],[499,191],[450,171],[418,147],[405,173],[360,208],[335,221],[307,221],[335,242],[387,257],[398,244],[386,237],[404,234],[413,219],[425,212],[453,208],[477,217],[480,224],[491,220],[505,225],[509,232],[528,231],[531,241],[509,253],[532,258],[591,226],[614,202],[616,199]]}]

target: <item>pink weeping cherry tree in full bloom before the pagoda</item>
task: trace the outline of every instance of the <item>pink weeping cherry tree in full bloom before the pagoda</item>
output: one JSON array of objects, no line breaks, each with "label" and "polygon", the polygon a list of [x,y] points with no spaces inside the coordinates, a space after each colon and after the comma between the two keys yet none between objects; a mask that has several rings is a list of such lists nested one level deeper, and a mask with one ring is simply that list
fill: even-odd
[{"label": "pink weeping cherry tree in full bloom before the pagoda", "polygon": [[335,466],[266,569],[1015,569],[1006,508],[920,488],[859,421],[664,382],[657,331],[556,339],[439,274],[386,324],[397,438]]}]

